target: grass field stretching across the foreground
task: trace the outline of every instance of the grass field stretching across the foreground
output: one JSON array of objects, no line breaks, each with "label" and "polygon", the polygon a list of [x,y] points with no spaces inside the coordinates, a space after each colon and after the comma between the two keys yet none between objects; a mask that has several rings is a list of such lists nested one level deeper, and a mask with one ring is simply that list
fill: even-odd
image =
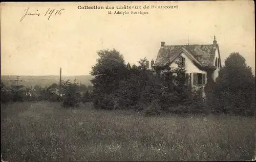
[{"label": "grass field stretching across the foreground", "polygon": [[255,119],[230,116],[144,117],[92,105],[2,105],[6,161],[251,160]]}]

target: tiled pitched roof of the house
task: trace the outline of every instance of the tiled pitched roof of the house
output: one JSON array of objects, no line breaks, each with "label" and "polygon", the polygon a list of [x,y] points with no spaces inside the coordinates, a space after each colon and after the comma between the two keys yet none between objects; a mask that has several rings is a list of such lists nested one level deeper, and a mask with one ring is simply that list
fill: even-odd
[{"label": "tiled pitched roof of the house", "polygon": [[[217,44],[217,48],[218,44]],[[182,50],[188,51],[202,66],[214,66],[214,44],[164,45],[160,47],[154,67],[163,67]]]}]

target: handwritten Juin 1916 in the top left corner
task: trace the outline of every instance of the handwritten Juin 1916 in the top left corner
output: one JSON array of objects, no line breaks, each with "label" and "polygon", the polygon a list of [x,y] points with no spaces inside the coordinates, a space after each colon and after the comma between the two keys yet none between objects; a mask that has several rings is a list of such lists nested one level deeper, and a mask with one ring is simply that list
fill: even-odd
[{"label": "handwritten Juin 1916 in the top left corner", "polygon": [[[56,14],[61,15],[62,10],[65,10],[65,9],[55,10],[55,9],[48,8],[44,16],[48,16],[48,20],[49,20],[52,15],[54,16],[56,16]],[[20,22],[22,22],[26,16],[40,16],[40,15],[41,14],[38,12],[38,10],[36,10],[36,12],[29,12],[29,7],[28,7],[25,9],[25,14],[22,16],[22,18],[20,18]]]}]

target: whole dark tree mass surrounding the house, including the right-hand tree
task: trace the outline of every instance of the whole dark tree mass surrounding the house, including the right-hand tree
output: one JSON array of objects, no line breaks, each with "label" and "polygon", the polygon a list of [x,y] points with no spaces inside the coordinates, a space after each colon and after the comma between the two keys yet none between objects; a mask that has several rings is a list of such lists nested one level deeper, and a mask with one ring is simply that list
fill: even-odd
[{"label": "whole dark tree mass surrounding the house, including the right-hand tree", "polygon": [[146,114],[234,114],[254,115],[255,76],[239,53],[231,53],[220,70],[217,82],[207,82],[206,98],[202,89],[185,86],[185,68],[168,69],[157,76],[146,69],[146,58],[139,65],[125,64],[117,50],[98,51],[92,67],[93,102],[96,109],[135,109]]}]

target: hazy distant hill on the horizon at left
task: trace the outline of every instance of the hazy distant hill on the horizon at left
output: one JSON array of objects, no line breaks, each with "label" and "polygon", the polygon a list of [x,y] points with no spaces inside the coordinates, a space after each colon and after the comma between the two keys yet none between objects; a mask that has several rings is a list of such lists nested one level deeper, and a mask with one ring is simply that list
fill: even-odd
[{"label": "hazy distant hill on the horizon at left", "polygon": [[[92,85],[90,80],[93,78],[92,75],[79,75],[79,76],[61,76],[62,80],[70,79],[73,81],[76,79],[77,83],[82,83],[84,85]],[[1,75],[1,79],[3,80],[5,85],[14,85],[16,82],[16,75]],[[23,85],[25,87],[34,87],[35,85],[39,85],[41,87],[51,86],[53,83],[59,83],[58,75],[46,75],[46,76],[29,76],[29,75],[20,75],[19,79],[22,80],[19,82],[19,85]]]}]

